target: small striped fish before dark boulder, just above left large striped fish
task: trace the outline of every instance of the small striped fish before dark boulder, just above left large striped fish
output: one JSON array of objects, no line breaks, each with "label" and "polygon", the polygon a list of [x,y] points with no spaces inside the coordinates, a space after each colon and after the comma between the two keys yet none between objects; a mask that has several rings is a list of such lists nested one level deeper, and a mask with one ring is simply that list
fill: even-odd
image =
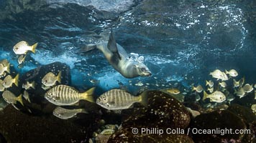
[{"label": "small striped fish before dark boulder, just above left large striped fish", "polygon": [[45,75],[45,77],[42,78],[42,84],[44,84],[46,87],[55,85],[55,82],[61,83],[61,71],[57,76],[55,76],[55,74],[52,72],[49,72]]}]

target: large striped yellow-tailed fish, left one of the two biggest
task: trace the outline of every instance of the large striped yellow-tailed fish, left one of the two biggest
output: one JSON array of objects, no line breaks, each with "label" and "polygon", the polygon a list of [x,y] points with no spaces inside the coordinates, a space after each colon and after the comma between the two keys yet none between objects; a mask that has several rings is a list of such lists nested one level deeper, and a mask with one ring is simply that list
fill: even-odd
[{"label": "large striped yellow-tailed fish, left one of the two biggest", "polygon": [[85,99],[88,102],[94,102],[92,96],[94,89],[95,87],[86,92],[79,93],[73,87],[58,85],[46,92],[45,99],[58,106],[73,105],[78,103],[81,99]]}]

